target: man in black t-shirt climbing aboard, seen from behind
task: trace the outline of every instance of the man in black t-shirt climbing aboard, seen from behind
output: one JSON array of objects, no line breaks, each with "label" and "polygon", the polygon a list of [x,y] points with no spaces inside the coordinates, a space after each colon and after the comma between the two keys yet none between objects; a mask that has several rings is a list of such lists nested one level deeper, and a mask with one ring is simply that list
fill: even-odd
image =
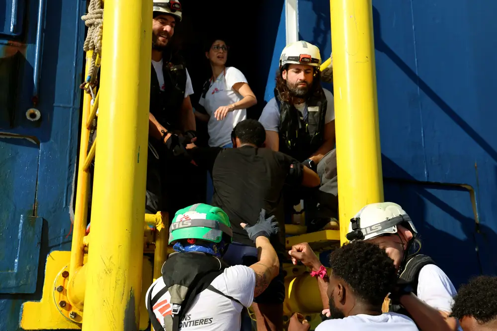
[{"label": "man in black t-shirt climbing aboard, seen from behind", "polygon": [[[233,130],[232,140],[236,148],[193,147],[187,149],[187,155],[210,171],[214,185],[212,205],[222,208],[230,218],[233,244],[223,259],[231,265],[251,265],[257,261],[257,250],[240,223],[253,225],[260,210],[265,209],[269,216],[277,218],[283,230],[283,188],[286,185],[318,187],[320,179],[294,158],[261,148],[265,131],[255,120],[240,122]],[[284,238],[284,231],[280,231],[279,238],[273,238],[280,259],[285,254]],[[257,330],[282,330],[284,298],[284,274],[280,270],[254,300]]]}]

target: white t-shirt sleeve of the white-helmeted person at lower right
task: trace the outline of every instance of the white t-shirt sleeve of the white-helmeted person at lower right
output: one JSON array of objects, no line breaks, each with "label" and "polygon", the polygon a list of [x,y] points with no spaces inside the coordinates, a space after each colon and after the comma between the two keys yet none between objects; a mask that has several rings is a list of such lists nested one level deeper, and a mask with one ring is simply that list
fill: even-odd
[{"label": "white t-shirt sleeve of the white-helmeted person at lower right", "polygon": [[[438,311],[451,313],[457,291],[449,277],[436,265],[425,265],[417,278],[417,297]],[[462,331],[461,327],[459,330]]]}]

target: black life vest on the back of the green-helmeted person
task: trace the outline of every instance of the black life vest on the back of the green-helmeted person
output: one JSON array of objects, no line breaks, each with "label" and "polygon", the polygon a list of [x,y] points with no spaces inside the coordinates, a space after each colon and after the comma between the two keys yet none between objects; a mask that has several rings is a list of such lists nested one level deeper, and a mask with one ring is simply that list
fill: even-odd
[{"label": "black life vest on the back of the green-helmeted person", "polygon": [[[147,297],[147,310],[154,330],[178,331],[179,323],[188,312],[193,300],[206,289],[240,303],[211,285],[211,282],[227,267],[228,265],[221,259],[203,253],[171,254],[162,267],[162,278],[166,286],[154,297],[151,288]],[[167,291],[171,295],[172,315],[164,317],[163,326],[157,320],[153,307]]]}]

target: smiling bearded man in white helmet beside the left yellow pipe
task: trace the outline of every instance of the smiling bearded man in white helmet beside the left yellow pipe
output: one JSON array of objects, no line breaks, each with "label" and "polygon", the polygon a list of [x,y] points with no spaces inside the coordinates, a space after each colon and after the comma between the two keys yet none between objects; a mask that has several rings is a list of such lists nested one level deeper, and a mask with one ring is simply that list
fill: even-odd
[{"label": "smiling bearded man in white helmet beside the left yellow pipe", "polygon": [[[171,45],[174,28],[182,19],[181,4],[177,0],[154,0],[153,10],[146,212],[174,213],[194,200],[181,201],[191,196],[186,192],[165,198],[165,188],[187,187],[174,180],[184,180],[194,168],[184,160],[174,159],[166,144],[171,135],[173,139],[195,136],[195,116],[190,102],[193,88],[182,57]],[[175,175],[168,176],[168,173]]]}]

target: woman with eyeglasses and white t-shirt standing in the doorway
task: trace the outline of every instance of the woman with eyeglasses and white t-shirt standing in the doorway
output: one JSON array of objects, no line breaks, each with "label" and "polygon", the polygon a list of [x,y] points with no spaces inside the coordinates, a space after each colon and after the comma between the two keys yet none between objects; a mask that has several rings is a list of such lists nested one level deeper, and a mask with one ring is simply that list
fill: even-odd
[{"label": "woman with eyeglasses and white t-shirt standing in the doorway", "polygon": [[[206,45],[205,57],[209,60],[212,76],[204,84],[198,101],[207,114],[195,112],[195,117],[207,122],[209,146],[232,148],[231,132],[247,118],[247,108],[257,99],[248,86],[245,75],[234,66],[226,66],[229,47],[222,39],[211,39]],[[210,174],[207,176],[207,202],[212,198]]]}]

